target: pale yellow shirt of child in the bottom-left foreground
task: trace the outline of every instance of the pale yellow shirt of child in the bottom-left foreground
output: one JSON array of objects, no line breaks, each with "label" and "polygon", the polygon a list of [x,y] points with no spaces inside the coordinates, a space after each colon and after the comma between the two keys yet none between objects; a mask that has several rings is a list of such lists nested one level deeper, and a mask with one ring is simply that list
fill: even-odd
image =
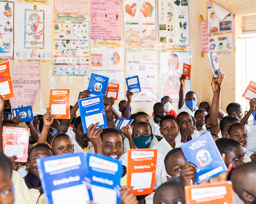
[{"label": "pale yellow shirt of child in the bottom-left foreground", "polygon": [[46,204],[44,194],[35,189],[29,189],[17,171],[12,171],[12,183],[14,184],[14,204]]}]

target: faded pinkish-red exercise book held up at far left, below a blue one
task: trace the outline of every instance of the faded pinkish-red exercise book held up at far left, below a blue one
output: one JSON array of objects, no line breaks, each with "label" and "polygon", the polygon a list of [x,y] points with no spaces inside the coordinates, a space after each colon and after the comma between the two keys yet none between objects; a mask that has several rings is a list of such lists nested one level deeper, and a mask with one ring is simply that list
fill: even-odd
[{"label": "faded pinkish-red exercise book held up at far left, below a blue one", "polygon": [[7,157],[17,155],[18,159],[15,161],[26,162],[29,132],[28,128],[4,126],[2,129],[4,154]]}]

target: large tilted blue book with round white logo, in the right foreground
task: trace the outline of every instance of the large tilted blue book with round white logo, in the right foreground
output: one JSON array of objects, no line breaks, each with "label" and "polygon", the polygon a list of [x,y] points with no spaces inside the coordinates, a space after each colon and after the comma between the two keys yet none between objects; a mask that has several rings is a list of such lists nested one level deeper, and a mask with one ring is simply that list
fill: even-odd
[{"label": "large tilted blue book with round white logo, in the right foreground", "polygon": [[181,150],[187,162],[197,166],[197,183],[228,171],[210,132],[182,144]]}]

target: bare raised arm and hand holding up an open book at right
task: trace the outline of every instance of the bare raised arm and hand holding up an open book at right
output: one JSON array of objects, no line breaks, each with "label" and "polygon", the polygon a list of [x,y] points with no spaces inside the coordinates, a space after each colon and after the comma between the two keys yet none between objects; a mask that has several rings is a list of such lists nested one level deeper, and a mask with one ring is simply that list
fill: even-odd
[{"label": "bare raised arm and hand holding up an open book at right", "polygon": [[213,89],[213,100],[210,108],[210,127],[211,132],[218,134],[220,131],[218,115],[219,115],[219,98],[220,98],[220,87],[221,79],[220,73],[218,72],[218,78],[212,77],[212,89]]}]

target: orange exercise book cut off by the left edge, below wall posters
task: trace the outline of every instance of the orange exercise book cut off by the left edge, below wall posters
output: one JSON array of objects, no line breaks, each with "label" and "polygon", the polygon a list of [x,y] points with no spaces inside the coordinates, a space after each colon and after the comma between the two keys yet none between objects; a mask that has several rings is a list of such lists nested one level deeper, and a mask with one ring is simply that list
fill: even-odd
[{"label": "orange exercise book cut off by the left edge, below wall posters", "polygon": [[9,62],[0,64],[0,94],[4,100],[14,97]]}]

